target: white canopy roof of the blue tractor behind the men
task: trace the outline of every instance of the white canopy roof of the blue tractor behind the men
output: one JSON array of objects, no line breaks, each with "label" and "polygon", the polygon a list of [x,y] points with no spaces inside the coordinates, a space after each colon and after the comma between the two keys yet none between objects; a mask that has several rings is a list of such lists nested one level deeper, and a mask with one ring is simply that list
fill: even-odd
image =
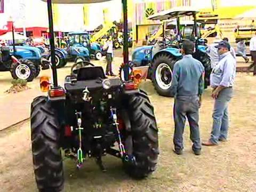
[{"label": "white canopy roof of the blue tractor behind the men", "polygon": [[191,16],[193,13],[198,13],[199,10],[194,7],[173,7],[172,9],[161,11],[148,17],[150,20],[168,20],[176,19],[177,17]]}]

